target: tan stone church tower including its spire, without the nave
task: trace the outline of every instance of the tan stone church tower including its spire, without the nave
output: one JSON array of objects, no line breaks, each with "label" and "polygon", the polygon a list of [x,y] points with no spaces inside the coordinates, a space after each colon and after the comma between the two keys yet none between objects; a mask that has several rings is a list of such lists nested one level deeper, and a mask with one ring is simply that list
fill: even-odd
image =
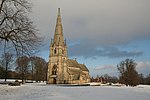
[{"label": "tan stone church tower including its spire, without the nave", "polygon": [[67,45],[63,36],[60,8],[58,8],[54,39],[51,39],[50,43],[50,55],[47,72],[48,84],[64,83],[64,69],[67,58]]}]

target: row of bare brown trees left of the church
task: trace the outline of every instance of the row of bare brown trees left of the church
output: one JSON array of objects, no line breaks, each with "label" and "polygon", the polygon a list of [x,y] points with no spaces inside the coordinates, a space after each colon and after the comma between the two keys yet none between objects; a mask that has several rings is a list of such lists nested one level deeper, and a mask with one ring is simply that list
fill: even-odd
[{"label": "row of bare brown trees left of the church", "polygon": [[[10,54],[7,54],[8,56]],[[12,57],[8,58],[2,56],[0,59],[0,79],[5,79],[5,81],[7,79],[21,79],[22,82],[26,80],[46,81],[47,62],[43,58],[21,56],[15,61],[12,60]]]}]

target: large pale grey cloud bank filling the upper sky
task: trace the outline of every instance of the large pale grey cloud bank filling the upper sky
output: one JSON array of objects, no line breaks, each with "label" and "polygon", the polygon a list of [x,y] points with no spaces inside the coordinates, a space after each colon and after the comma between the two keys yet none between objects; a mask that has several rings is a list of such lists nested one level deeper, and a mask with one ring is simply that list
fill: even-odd
[{"label": "large pale grey cloud bank filling the upper sky", "polygon": [[70,40],[85,38],[106,46],[150,38],[149,0],[32,1],[32,16],[47,39],[53,36],[58,7],[64,35]]}]

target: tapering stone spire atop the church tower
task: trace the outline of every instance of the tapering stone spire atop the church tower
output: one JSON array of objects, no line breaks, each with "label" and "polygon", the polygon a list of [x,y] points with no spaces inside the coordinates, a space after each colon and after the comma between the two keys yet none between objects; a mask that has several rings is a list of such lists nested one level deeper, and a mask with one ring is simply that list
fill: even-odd
[{"label": "tapering stone spire atop the church tower", "polygon": [[60,8],[58,8],[56,28],[54,33],[54,44],[64,46],[63,27],[60,16]]}]

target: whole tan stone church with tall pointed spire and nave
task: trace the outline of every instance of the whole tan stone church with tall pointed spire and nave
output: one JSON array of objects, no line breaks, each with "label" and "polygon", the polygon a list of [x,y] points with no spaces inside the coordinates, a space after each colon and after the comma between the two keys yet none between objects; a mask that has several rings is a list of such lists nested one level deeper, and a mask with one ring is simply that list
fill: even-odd
[{"label": "whole tan stone church with tall pointed spire and nave", "polygon": [[54,39],[51,39],[50,43],[47,84],[82,84],[87,82],[90,82],[87,67],[68,58],[60,8],[58,8]]}]

